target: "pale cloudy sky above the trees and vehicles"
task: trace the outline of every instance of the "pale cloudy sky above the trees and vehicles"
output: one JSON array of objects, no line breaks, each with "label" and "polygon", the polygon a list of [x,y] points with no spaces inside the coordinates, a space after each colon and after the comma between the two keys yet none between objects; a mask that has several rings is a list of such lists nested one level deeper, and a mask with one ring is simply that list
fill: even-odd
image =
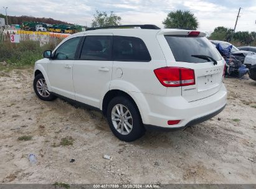
[{"label": "pale cloudy sky above the trees and vehicles", "polygon": [[256,0],[0,0],[0,13],[6,6],[11,16],[52,17],[60,21],[90,27],[93,14],[114,11],[121,24],[155,24],[162,22],[170,11],[191,11],[199,21],[198,30],[212,32],[217,26],[234,29],[235,19],[242,7],[237,29],[256,31]]}]

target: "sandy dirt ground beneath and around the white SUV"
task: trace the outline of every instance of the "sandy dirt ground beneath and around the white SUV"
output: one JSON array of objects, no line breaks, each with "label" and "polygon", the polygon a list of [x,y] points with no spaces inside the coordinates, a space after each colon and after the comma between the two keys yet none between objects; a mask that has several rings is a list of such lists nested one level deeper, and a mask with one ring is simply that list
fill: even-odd
[{"label": "sandy dirt ground beneath and around the white SUV", "polygon": [[[59,98],[41,101],[32,80],[32,69],[0,73],[2,183],[256,183],[256,81],[225,78],[222,113],[128,143],[113,136],[100,113]],[[65,137],[73,144],[60,145]]]}]

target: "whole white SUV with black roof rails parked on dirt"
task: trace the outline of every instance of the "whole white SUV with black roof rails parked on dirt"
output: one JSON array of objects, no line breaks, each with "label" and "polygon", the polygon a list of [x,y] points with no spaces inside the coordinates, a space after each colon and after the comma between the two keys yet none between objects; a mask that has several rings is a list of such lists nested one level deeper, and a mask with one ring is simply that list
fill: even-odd
[{"label": "whole white SUV with black roof rails parked on dirt", "polygon": [[220,113],[227,98],[224,59],[205,36],[155,25],[73,34],[36,62],[34,90],[45,101],[100,109],[122,141],[192,126]]}]

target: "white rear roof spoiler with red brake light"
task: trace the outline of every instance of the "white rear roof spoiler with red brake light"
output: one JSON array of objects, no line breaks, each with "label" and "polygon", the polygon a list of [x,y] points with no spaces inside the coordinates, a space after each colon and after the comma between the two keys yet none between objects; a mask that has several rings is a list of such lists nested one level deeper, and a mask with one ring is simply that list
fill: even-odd
[{"label": "white rear roof spoiler with red brake light", "polygon": [[157,35],[188,35],[206,37],[206,33],[197,30],[161,29]]}]

